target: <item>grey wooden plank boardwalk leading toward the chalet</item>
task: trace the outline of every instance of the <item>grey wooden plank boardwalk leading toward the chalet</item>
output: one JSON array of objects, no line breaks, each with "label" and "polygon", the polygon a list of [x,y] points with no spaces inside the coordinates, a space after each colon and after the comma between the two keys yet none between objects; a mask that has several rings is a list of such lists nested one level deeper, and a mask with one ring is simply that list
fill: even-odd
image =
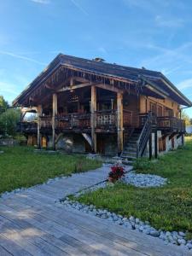
[{"label": "grey wooden plank boardwalk leading toward the chalet", "polygon": [[160,239],[64,207],[55,200],[101,182],[108,168],[0,199],[2,255],[192,255]]}]

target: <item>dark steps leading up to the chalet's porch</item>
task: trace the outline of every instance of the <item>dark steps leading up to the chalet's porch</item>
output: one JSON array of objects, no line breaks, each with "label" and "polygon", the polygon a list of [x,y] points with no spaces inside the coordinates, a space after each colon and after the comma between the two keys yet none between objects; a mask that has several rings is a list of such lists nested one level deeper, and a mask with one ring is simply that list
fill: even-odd
[{"label": "dark steps leading up to the chalet's porch", "polygon": [[137,159],[137,140],[140,137],[140,134],[140,129],[135,130],[128,143],[125,144],[124,151],[121,154],[124,163],[131,165]]}]

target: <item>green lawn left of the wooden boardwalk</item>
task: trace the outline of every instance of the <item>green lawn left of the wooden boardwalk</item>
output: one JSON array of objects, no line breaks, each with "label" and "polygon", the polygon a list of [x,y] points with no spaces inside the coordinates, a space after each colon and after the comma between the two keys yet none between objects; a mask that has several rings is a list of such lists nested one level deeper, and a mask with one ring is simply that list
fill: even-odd
[{"label": "green lawn left of the wooden boardwalk", "polygon": [[30,147],[2,147],[0,154],[0,194],[20,187],[44,183],[51,177],[68,176],[101,166],[78,154],[38,154]]}]

